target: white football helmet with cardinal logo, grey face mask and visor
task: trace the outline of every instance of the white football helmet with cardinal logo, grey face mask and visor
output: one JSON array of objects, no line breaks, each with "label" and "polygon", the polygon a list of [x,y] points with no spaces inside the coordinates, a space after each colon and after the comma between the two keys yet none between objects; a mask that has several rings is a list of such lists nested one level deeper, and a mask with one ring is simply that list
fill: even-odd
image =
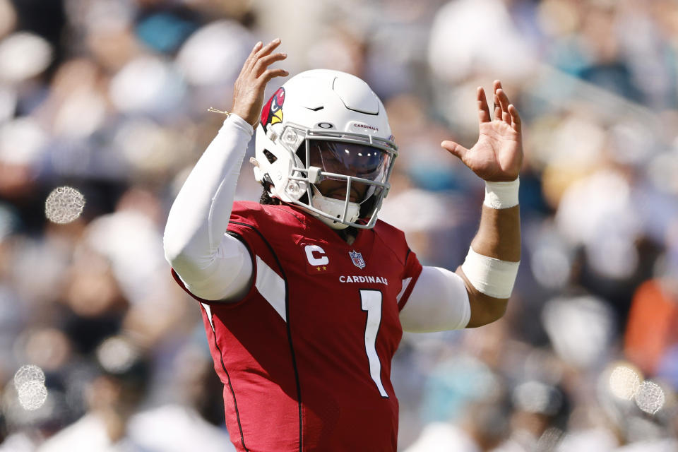
[{"label": "white football helmet with cardinal logo, grey face mask and visor", "polygon": [[[386,110],[367,83],[315,69],[290,78],[264,105],[251,162],[271,197],[334,229],[368,229],[388,194],[397,149]],[[325,180],[335,182],[323,196]]]}]

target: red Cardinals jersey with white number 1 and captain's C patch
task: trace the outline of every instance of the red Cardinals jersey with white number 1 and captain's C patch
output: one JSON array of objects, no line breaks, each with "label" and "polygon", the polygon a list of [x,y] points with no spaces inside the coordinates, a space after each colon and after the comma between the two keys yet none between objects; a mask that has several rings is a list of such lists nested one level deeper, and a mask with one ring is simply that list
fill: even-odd
[{"label": "red Cardinals jersey with white number 1 and captain's C patch", "polygon": [[391,359],[422,270],[403,232],[379,221],[349,245],[312,215],[251,202],[228,230],[254,283],[234,304],[198,300],[237,450],[395,452]]}]

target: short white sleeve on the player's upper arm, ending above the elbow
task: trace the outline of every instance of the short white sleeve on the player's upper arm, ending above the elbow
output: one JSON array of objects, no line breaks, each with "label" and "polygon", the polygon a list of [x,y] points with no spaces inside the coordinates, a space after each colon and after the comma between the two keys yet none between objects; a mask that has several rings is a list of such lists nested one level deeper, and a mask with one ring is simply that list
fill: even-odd
[{"label": "short white sleeve on the player's upper arm, ending above the elbow", "polygon": [[429,333],[464,328],[471,306],[464,280],[439,267],[422,268],[407,304],[400,311],[403,330]]}]

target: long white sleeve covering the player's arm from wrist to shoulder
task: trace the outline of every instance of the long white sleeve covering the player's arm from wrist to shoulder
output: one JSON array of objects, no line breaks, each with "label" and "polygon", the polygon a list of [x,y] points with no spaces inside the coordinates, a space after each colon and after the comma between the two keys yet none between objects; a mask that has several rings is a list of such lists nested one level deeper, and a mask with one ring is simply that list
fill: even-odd
[{"label": "long white sleeve covering the player's arm from wrist to shoulder", "polygon": [[227,117],[169,210],[165,258],[197,297],[235,301],[249,288],[249,251],[225,232],[252,133],[244,119]]}]

